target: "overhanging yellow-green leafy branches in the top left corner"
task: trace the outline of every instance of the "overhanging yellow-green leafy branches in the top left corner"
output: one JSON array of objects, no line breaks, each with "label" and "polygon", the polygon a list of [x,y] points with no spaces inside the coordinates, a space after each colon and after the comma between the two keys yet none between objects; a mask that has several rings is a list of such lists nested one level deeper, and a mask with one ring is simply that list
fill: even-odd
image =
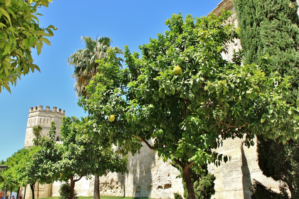
[{"label": "overhanging yellow-green leafy branches in the top left corner", "polygon": [[[10,92],[9,84],[16,85],[21,75],[39,70],[33,64],[31,48],[41,52],[43,44],[50,45],[45,37],[53,36],[56,27],[39,27],[37,6],[48,7],[52,0],[0,0],[0,92],[5,88]],[[51,30],[52,29],[52,30]]]}]

